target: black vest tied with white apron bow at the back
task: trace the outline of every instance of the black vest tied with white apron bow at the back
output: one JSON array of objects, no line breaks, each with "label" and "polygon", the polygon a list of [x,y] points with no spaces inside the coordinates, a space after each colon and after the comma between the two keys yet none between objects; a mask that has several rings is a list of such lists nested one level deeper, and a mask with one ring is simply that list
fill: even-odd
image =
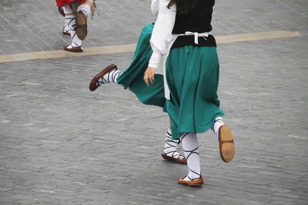
[{"label": "black vest tied with white apron bow at the back", "polygon": [[[210,22],[214,5],[215,0],[198,0],[194,9],[185,14],[177,14],[172,34],[184,34],[186,31],[198,33],[210,32],[212,30]],[[172,45],[172,48],[183,46],[216,47],[216,40],[213,35],[206,37],[206,40],[203,37],[199,37],[198,42],[198,45],[195,44],[194,36],[179,36],[174,45]]]}]

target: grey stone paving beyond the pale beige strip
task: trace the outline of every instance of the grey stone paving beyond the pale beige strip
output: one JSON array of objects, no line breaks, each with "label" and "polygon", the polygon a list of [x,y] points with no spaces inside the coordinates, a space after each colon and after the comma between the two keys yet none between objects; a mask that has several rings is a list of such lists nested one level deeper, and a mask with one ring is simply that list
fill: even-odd
[{"label": "grey stone paving beyond the pale beige strip", "polygon": [[[213,33],[307,31],[307,4],[307,0],[217,1]],[[143,26],[155,21],[150,0],[98,0],[97,5],[88,21],[85,47],[134,44]],[[64,23],[53,0],[0,0],[0,54],[62,49],[71,43],[61,32]]]}]

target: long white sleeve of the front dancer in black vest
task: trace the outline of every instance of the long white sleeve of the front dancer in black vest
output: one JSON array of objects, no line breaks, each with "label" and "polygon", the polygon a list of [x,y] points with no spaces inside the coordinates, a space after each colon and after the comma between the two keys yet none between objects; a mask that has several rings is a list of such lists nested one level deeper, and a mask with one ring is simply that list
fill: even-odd
[{"label": "long white sleeve of the front dancer in black vest", "polygon": [[158,68],[161,57],[167,53],[172,29],[176,21],[176,5],[172,5],[170,9],[168,9],[167,5],[169,2],[170,1],[166,0],[159,1],[159,13],[150,39],[153,53],[148,66],[156,69]]}]

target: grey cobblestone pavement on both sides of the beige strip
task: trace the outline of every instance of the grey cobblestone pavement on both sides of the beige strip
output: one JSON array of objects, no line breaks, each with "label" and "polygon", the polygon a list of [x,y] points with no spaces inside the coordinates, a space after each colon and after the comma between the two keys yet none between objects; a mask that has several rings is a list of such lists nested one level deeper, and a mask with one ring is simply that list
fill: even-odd
[{"label": "grey cobblestone pavement on both sides of the beige strip", "polygon": [[[86,47],[136,43],[155,20],[149,1],[97,4]],[[307,16],[306,0],[217,1],[216,35],[302,36],[219,45],[218,94],[236,156],[224,163],[214,134],[198,135],[203,188],[178,185],[187,167],[162,159],[161,109],[120,86],[88,90],[133,53],[0,64],[0,204],[308,204]],[[54,1],[0,0],[0,17],[1,54],[70,42]]]}]

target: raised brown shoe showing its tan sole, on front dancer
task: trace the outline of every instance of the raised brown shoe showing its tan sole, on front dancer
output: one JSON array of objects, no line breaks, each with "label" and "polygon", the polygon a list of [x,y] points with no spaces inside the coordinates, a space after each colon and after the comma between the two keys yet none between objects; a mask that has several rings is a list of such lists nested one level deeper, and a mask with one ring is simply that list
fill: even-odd
[{"label": "raised brown shoe showing its tan sole, on front dancer", "polygon": [[230,162],[234,157],[235,148],[233,135],[228,126],[223,125],[219,128],[218,140],[221,159],[224,162]]}]

